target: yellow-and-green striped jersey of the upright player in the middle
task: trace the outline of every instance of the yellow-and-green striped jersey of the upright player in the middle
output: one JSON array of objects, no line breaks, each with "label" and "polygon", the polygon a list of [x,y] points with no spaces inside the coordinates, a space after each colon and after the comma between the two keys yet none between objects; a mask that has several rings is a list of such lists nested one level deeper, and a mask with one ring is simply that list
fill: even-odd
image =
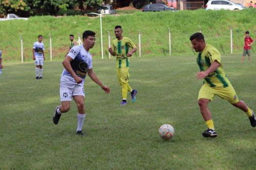
[{"label": "yellow-and-green striped jersey of the upright player in the middle", "polygon": [[113,41],[112,50],[116,53],[116,67],[129,67],[129,57],[127,53],[130,48],[136,48],[134,42],[127,37],[123,37],[121,41],[115,39]]}]

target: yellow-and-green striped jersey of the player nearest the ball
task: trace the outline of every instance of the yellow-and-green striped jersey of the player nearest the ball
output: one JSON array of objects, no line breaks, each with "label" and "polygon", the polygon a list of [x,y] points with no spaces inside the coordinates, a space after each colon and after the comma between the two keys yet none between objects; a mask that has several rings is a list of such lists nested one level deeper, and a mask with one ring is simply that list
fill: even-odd
[{"label": "yellow-and-green striped jersey of the player nearest the ball", "polygon": [[[215,60],[221,64],[220,52],[214,46],[206,44],[204,50],[198,54],[197,64],[201,71],[205,71]],[[204,83],[207,83],[210,87],[227,87],[230,83],[226,77],[222,64],[217,68],[217,70],[211,72],[206,78],[204,78],[204,80]]]}]

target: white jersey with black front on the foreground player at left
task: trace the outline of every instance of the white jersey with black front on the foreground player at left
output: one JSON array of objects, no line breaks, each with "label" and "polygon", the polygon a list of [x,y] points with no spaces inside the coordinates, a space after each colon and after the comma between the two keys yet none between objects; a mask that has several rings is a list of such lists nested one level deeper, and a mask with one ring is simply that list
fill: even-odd
[{"label": "white jersey with black front on the foreground player at left", "polygon": [[[87,70],[93,67],[92,55],[84,49],[83,45],[77,45],[71,48],[68,56],[73,59],[70,64],[75,74],[82,79],[82,83],[78,85],[83,86],[84,79],[87,75]],[[77,84],[73,76],[65,68],[62,72],[60,82]]]}]

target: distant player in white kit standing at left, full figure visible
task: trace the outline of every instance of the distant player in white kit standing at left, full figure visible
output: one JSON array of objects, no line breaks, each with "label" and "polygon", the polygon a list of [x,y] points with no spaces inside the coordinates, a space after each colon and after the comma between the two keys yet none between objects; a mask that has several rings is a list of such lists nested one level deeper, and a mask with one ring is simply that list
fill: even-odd
[{"label": "distant player in white kit standing at left, full figure visible", "polygon": [[35,78],[42,79],[42,66],[45,58],[45,45],[42,42],[42,36],[38,35],[38,41],[34,42],[33,46],[33,60],[35,60]]}]

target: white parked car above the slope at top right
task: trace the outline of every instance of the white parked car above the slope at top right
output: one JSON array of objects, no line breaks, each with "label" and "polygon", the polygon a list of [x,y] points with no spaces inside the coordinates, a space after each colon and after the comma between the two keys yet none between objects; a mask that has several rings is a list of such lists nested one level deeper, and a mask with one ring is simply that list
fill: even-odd
[{"label": "white parked car above the slope at top right", "polygon": [[235,4],[228,0],[209,0],[205,5],[206,10],[242,10],[245,8],[242,4]]}]

